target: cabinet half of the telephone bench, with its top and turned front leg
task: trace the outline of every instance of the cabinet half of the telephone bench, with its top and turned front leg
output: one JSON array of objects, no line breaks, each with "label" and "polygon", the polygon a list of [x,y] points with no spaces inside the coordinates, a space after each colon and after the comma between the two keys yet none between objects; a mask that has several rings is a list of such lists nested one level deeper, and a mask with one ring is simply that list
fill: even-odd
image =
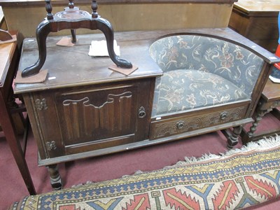
[{"label": "cabinet half of the telephone bench, with its top and turned front leg", "polygon": [[[103,34],[78,36],[72,48],[55,45],[61,37],[49,36],[43,69],[54,79],[15,85],[27,106],[39,165],[48,166],[53,188],[61,187],[57,163],[136,148],[148,139],[155,76],[162,71],[139,37],[116,36],[123,57],[139,66],[125,76],[108,69],[110,58],[87,55],[91,41]],[[34,63],[37,53],[36,41],[25,40],[19,69]]]}]

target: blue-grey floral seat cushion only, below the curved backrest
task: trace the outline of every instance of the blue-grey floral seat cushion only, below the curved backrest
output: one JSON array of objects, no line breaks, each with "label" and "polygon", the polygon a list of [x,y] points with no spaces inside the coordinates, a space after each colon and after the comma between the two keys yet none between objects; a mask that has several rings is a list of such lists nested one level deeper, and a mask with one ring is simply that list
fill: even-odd
[{"label": "blue-grey floral seat cushion only, below the curved backrest", "polygon": [[248,99],[239,87],[214,73],[167,71],[156,83],[152,116]]}]

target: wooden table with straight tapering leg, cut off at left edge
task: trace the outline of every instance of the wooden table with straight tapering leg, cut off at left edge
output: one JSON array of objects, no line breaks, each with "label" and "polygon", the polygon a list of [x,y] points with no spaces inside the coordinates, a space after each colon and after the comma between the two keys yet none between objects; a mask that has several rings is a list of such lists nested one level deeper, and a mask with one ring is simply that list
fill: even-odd
[{"label": "wooden table with straight tapering leg, cut off at left edge", "polygon": [[[10,34],[18,34],[10,31]],[[19,59],[18,45],[16,42],[0,45],[0,124],[5,134],[6,141],[13,153],[15,162],[20,169],[22,179],[29,190],[30,195],[36,194],[22,146],[15,132],[15,123],[12,111],[16,108],[13,99],[13,78]],[[7,166],[8,167],[8,166]]]}]

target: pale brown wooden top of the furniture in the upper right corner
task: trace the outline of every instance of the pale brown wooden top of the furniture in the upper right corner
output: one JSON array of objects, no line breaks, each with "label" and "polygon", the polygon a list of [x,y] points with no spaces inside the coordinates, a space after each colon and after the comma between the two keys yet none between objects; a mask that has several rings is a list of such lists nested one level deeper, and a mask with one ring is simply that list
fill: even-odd
[{"label": "pale brown wooden top of the furniture in the upper right corner", "polygon": [[278,16],[280,11],[280,0],[239,0],[234,3],[234,8],[239,9],[247,15],[273,15]]}]

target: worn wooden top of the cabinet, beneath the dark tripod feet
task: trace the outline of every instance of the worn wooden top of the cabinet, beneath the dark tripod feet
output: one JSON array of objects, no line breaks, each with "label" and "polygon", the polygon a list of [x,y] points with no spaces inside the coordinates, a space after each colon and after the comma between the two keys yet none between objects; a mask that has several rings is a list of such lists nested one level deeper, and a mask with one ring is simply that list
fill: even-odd
[{"label": "worn wooden top of the cabinet, beneath the dark tripod feet", "polygon": [[[48,36],[47,57],[42,69],[48,69],[48,78],[53,79],[47,78],[44,83],[16,84],[15,93],[160,76],[162,70],[148,53],[148,39],[141,35],[141,32],[115,33],[115,39],[120,45],[120,57],[138,67],[129,76],[109,69],[109,66],[114,64],[110,57],[88,55],[91,41],[105,40],[104,34],[78,35],[78,42],[73,47],[56,45],[62,36]],[[36,39],[26,38],[23,42],[19,71],[34,64],[37,59]]]}]

